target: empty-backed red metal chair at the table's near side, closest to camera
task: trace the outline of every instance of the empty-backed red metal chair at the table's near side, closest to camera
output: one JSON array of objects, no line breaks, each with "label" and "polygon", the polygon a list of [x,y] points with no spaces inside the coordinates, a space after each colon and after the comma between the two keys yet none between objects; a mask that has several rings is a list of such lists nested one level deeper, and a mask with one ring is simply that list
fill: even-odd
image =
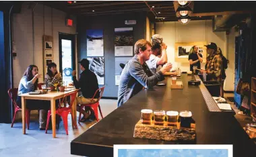
[{"label": "empty-backed red metal chair at the table's near side, closest to camera", "polygon": [[[71,107],[73,105],[74,100],[76,99],[76,94],[77,94],[77,91],[72,92],[72,93],[68,93],[67,95],[65,95],[63,97],[62,101],[60,101],[60,103],[59,103],[59,108],[55,111],[55,113],[57,115],[61,115],[67,135],[69,134],[68,129],[67,129],[67,116],[69,115],[69,113],[71,113],[71,117],[72,117],[72,121],[73,121],[73,125],[74,125],[75,129],[77,129],[77,125],[75,124],[74,117],[73,117],[72,112],[71,112]],[[63,103],[63,101],[65,101],[65,98],[68,97],[68,96],[71,96],[69,107],[61,107],[61,103]],[[49,127],[50,117],[51,117],[51,110],[48,111],[45,134],[47,134],[47,129]]]}]

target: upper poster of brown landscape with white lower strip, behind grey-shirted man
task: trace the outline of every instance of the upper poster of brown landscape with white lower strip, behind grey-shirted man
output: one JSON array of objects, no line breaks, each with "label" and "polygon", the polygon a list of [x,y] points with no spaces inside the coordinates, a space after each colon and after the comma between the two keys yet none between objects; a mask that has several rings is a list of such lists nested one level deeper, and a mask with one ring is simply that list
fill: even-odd
[{"label": "upper poster of brown landscape with white lower strip, behind grey-shirted man", "polygon": [[115,56],[133,56],[133,28],[115,28]]}]

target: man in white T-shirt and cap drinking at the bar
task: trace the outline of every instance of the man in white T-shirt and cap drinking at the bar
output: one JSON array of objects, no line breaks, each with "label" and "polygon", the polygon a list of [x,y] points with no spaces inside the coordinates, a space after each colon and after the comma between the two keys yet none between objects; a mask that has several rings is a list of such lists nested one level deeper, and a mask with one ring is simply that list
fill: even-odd
[{"label": "man in white T-shirt and cap drinking at the bar", "polygon": [[[155,34],[151,38],[152,40],[152,54],[150,54],[150,59],[146,61],[148,67],[155,74],[162,65],[166,64],[168,58],[166,49],[167,46],[162,42],[163,38],[159,34]],[[177,72],[164,72],[164,75],[177,75]]]}]

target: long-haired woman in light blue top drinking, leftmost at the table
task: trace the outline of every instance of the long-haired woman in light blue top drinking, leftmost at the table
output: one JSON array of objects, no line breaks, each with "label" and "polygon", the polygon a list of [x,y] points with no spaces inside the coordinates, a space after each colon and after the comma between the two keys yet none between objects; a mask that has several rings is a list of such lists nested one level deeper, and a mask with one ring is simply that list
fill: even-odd
[{"label": "long-haired woman in light blue top drinking, leftmost at the table", "polygon": [[[30,93],[31,91],[35,91],[38,87],[38,78],[40,78],[42,74],[38,74],[38,67],[35,65],[30,65],[24,72],[24,76],[20,80],[18,95],[24,93]],[[22,99],[20,96],[17,98],[17,105],[22,108]],[[26,100],[26,107],[30,110],[39,109],[39,125],[40,130],[45,129],[46,127],[46,111],[50,109],[50,103],[46,103],[46,101],[40,100]]]}]

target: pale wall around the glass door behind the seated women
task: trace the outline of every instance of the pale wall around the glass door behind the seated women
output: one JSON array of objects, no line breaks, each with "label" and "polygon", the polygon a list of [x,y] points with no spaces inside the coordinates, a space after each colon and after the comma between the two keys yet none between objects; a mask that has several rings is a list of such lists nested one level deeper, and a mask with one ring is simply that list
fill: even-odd
[{"label": "pale wall around the glass door behind the seated women", "polygon": [[[13,57],[13,87],[18,87],[28,65],[35,64],[39,72],[43,72],[43,35],[53,36],[53,62],[57,64],[59,70],[59,32],[67,34],[76,32],[75,24],[73,27],[65,26],[67,13],[40,4],[36,5],[34,8],[33,62],[32,9],[29,9],[28,4],[25,2],[22,5],[22,11],[13,15],[13,41],[17,53],[17,56]],[[42,79],[39,79],[39,82],[42,82]]]}]

